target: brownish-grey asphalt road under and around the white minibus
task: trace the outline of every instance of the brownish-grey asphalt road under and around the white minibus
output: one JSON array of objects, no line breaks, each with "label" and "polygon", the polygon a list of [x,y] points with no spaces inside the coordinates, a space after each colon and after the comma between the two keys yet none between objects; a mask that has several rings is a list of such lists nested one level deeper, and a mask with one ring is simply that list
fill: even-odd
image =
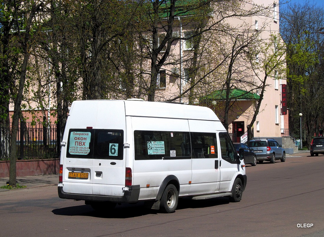
[{"label": "brownish-grey asphalt road under and around the white minibus", "polygon": [[324,156],[308,153],[247,165],[241,202],[183,198],[171,214],[143,203],[99,213],[60,199],[56,186],[9,190],[0,193],[0,236],[323,236],[323,167]]}]

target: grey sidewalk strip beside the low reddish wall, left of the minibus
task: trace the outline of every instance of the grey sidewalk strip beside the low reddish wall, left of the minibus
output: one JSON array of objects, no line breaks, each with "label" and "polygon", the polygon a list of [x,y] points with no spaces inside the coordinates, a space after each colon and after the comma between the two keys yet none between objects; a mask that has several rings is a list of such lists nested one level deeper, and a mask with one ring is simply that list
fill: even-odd
[{"label": "grey sidewalk strip beside the low reddish wall, left of the minibus", "polygon": [[[59,182],[58,174],[44,174],[44,175],[33,175],[17,177],[17,184],[20,186],[27,186],[26,188],[36,188],[43,186],[57,185]],[[0,186],[6,186],[9,183],[8,178],[0,178]],[[9,191],[10,189],[0,188],[0,192]]]}]

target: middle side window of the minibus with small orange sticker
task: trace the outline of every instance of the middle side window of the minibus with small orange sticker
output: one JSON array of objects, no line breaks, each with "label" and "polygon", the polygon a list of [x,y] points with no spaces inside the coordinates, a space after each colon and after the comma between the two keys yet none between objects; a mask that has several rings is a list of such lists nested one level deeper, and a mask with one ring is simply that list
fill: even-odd
[{"label": "middle side window of the minibus with small orange sticker", "polygon": [[217,158],[215,133],[190,133],[192,158]]}]

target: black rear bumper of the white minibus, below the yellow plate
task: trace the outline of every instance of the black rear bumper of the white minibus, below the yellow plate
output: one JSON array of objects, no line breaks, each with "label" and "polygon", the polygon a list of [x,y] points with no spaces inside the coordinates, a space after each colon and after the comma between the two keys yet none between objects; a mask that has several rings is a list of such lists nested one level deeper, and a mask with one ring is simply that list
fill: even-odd
[{"label": "black rear bumper of the white minibus, below the yellow plate", "polygon": [[138,202],[140,195],[140,185],[127,186],[128,191],[124,191],[124,196],[103,196],[103,195],[90,195],[90,194],[75,194],[65,193],[62,186],[58,186],[58,194],[60,198],[97,201],[97,202],[116,202],[116,203],[131,203]]}]

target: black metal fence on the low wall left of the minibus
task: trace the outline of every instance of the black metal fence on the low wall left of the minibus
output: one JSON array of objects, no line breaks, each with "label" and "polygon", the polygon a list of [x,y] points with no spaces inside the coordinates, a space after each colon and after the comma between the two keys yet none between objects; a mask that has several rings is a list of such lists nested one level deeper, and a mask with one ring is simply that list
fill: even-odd
[{"label": "black metal fence on the low wall left of the minibus", "polygon": [[[0,127],[0,160],[9,159],[11,128]],[[17,159],[47,159],[58,157],[56,124],[20,123],[17,134]]]}]

